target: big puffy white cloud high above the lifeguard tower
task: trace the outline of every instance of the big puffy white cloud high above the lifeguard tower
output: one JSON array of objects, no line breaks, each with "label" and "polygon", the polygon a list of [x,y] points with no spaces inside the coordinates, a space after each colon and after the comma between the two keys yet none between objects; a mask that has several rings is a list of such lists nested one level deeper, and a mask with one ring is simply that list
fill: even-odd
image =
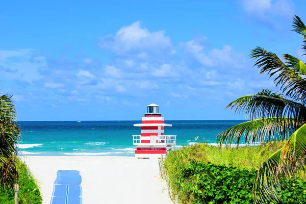
[{"label": "big puffy white cloud high above the lifeguard tower", "polygon": [[[115,36],[101,38],[99,46],[124,54],[140,50],[168,49],[172,47],[172,44],[170,38],[165,36],[165,31],[150,32],[146,28],[141,28],[140,21],[136,21],[131,25],[123,26]],[[146,57],[144,53],[141,55],[140,57]]]}]

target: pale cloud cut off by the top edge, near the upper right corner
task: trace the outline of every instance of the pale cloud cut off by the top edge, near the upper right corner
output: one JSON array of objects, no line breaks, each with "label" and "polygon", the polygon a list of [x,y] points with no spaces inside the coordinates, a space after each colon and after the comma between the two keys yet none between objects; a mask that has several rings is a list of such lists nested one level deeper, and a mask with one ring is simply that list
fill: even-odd
[{"label": "pale cloud cut off by the top edge, near the upper right corner", "polygon": [[242,0],[242,7],[249,15],[262,20],[270,20],[274,15],[292,18],[294,13],[294,3],[290,0]]}]

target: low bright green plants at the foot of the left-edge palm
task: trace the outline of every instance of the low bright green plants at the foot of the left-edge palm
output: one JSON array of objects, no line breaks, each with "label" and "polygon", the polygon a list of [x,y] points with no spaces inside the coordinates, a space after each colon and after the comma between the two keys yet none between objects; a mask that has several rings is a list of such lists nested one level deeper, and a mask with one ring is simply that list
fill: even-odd
[{"label": "low bright green plants at the foot of the left-edge palm", "polygon": [[[17,171],[19,174],[18,204],[39,204],[42,203],[40,191],[31,174],[28,174],[28,167],[20,160],[17,160]],[[30,173],[30,172],[29,172]],[[0,189],[0,203],[13,204],[15,192],[13,188]]]}]

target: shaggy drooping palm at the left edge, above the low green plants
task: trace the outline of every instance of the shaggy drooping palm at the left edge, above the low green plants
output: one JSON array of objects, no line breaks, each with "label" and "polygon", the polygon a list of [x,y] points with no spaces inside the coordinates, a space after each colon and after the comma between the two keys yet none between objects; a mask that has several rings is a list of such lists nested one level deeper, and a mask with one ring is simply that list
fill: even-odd
[{"label": "shaggy drooping palm at the left edge, above the low green plants", "polygon": [[15,107],[8,95],[0,96],[0,185],[13,187],[18,181],[16,144],[20,136]]}]

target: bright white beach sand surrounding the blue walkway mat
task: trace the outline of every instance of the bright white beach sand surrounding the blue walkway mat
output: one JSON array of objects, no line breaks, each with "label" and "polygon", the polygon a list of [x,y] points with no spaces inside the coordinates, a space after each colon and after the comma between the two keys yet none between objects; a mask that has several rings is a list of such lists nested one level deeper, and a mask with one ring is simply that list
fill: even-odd
[{"label": "bright white beach sand surrounding the blue walkway mat", "polygon": [[83,203],[173,203],[159,176],[157,159],[134,157],[23,156],[39,182],[43,203],[50,203],[58,170],[79,170]]}]

